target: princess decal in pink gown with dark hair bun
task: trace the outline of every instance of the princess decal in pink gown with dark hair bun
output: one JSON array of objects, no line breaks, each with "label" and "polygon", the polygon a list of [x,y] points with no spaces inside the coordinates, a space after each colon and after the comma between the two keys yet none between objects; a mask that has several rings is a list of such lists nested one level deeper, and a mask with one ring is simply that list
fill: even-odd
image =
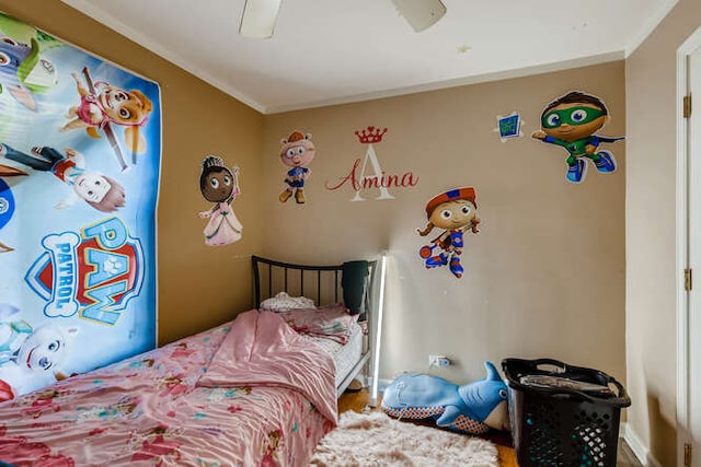
[{"label": "princess decal in pink gown with dark hair bun", "polygon": [[221,157],[208,155],[202,162],[199,189],[207,201],[215,203],[199,212],[202,219],[209,219],[204,230],[205,244],[219,246],[241,240],[243,226],[231,209],[231,202],[241,194],[239,167],[229,170]]}]

